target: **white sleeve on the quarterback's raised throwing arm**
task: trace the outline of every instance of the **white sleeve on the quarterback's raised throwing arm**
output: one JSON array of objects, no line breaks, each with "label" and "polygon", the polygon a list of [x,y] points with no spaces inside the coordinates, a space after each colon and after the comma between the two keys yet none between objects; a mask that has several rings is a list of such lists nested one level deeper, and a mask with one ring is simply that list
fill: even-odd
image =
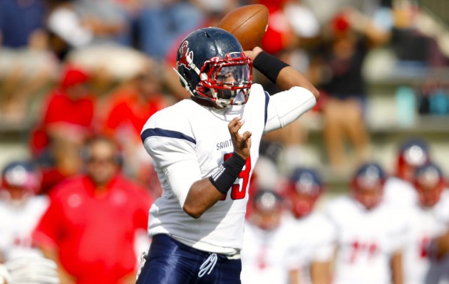
[{"label": "white sleeve on the quarterback's raised throwing arm", "polygon": [[316,104],[314,95],[302,87],[272,95],[267,109],[267,124],[264,132],[270,132],[285,127],[310,110]]}]

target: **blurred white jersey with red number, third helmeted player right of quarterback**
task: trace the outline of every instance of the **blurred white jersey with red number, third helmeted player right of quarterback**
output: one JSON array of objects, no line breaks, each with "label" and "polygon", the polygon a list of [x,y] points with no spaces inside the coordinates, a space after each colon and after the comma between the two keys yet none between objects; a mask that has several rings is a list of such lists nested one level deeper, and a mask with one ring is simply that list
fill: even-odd
[{"label": "blurred white jersey with red number, third helmeted player right of quarterback", "polygon": [[406,216],[386,204],[368,211],[349,196],[329,201],[326,213],[336,227],[334,284],[391,283],[391,255],[406,241]]}]

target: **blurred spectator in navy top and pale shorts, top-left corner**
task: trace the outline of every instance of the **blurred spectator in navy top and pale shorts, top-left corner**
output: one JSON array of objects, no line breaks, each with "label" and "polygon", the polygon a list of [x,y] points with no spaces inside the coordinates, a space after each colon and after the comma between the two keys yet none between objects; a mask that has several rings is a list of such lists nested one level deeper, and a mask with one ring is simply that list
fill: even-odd
[{"label": "blurred spectator in navy top and pale shorts, top-left corner", "polygon": [[57,61],[48,51],[45,14],[43,0],[0,1],[0,115],[4,123],[28,122],[30,100],[56,73]]}]

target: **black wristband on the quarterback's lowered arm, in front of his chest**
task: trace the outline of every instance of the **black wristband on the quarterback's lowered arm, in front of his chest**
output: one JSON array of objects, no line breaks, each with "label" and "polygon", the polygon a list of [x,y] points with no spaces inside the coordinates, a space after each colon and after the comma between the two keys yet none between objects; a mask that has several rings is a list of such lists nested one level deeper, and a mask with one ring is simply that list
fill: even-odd
[{"label": "black wristband on the quarterback's lowered arm, in front of his chest", "polygon": [[209,177],[210,182],[220,191],[222,194],[227,194],[227,191],[234,184],[235,179],[239,177],[239,173],[242,172],[243,166],[247,161],[236,154],[232,153],[232,156],[227,159],[212,176]]}]

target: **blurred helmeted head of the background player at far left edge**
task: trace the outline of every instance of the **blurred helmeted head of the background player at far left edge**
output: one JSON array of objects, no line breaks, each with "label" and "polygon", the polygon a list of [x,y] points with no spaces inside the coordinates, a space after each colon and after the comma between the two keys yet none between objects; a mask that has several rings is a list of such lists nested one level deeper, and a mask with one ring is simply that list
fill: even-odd
[{"label": "blurred helmeted head of the background player at far left edge", "polygon": [[28,161],[14,161],[6,164],[1,173],[0,193],[14,204],[21,204],[26,196],[34,195],[41,186],[41,172]]}]

